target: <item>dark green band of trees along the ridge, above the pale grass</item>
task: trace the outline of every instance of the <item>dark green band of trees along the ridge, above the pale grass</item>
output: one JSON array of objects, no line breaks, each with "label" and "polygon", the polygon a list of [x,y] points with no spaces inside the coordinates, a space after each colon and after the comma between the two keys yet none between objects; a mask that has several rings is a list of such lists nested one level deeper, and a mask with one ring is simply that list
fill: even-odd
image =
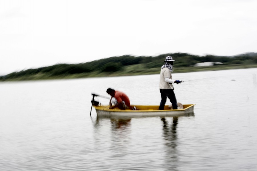
[{"label": "dark green band of trees along the ridge, above the pale grass", "polygon": [[[166,56],[172,56],[176,60],[175,66],[190,67],[200,62],[221,62],[223,65],[231,64],[257,64],[257,53],[250,52],[240,54],[237,56],[197,56],[187,53],[169,53],[161,54],[159,56],[115,56],[92,62],[79,63],[79,64],[56,64],[52,66],[41,67],[37,69],[27,69],[19,72],[13,72],[5,76],[0,76],[0,81],[11,80],[15,78],[33,79],[32,76],[47,76],[47,78],[61,78],[74,74],[83,74],[81,77],[87,77],[87,74],[95,72],[100,73],[114,73],[122,72],[128,66],[138,65],[144,69],[160,68]],[[140,65],[139,65],[140,64]],[[39,77],[40,78],[40,77]],[[43,77],[42,77],[43,78]]]}]

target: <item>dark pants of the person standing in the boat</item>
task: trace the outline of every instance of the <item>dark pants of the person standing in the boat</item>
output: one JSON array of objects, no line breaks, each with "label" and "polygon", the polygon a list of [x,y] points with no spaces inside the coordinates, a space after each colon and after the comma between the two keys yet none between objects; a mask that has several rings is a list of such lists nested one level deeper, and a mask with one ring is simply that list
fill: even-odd
[{"label": "dark pants of the person standing in the boat", "polygon": [[163,110],[167,97],[170,99],[173,109],[178,109],[177,99],[173,89],[160,89],[162,100],[160,102],[159,110]]}]

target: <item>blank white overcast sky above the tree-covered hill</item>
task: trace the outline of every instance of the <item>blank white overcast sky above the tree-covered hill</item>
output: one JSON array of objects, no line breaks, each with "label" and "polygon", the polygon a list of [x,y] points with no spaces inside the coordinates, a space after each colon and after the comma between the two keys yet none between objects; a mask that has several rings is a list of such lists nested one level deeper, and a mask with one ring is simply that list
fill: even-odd
[{"label": "blank white overcast sky above the tree-covered hill", "polygon": [[0,75],[112,56],[257,52],[257,0],[0,0]]}]

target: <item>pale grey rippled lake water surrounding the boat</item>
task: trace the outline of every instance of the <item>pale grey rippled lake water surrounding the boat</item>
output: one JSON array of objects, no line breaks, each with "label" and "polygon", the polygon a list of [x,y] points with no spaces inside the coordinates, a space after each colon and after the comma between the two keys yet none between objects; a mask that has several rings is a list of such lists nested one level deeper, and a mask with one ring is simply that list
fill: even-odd
[{"label": "pale grey rippled lake water surrounding the boat", "polygon": [[190,116],[165,118],[98,118],[94,108],[89,115],[91,93],[108,96],[109,87],[132,104],[158,105],[159,75],[0,82],[0,168],[255,171],[256,75],[173,74],[185,80],[175,85],[178,102],[196,106]]}]

